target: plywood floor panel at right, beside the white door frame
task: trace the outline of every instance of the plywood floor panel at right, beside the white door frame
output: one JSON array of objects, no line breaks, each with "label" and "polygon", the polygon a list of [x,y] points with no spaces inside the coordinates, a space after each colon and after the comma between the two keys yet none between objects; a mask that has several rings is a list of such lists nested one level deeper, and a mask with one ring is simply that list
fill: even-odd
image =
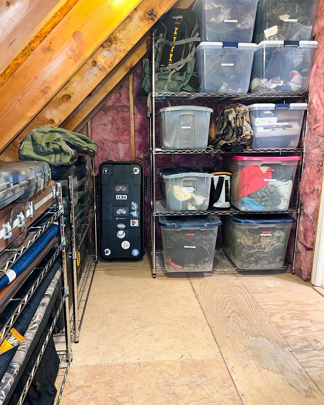
[{"label": "plywood floor panel at right, beside the white door frame", "polygon": [[237,275],[293,350],[324,347],[324,298],[291,273]]}]

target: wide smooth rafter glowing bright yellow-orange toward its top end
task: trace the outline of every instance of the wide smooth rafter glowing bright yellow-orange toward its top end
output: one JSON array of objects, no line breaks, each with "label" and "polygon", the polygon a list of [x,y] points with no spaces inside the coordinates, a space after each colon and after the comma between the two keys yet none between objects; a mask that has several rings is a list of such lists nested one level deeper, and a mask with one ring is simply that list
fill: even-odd
[{"label": "wide smooth rafter glowing bright yellow-orange toward its top end", "polygon": [[60,21],[0,87],[0,152],[138,3],[79,0],[72,7],[68,18]]}]

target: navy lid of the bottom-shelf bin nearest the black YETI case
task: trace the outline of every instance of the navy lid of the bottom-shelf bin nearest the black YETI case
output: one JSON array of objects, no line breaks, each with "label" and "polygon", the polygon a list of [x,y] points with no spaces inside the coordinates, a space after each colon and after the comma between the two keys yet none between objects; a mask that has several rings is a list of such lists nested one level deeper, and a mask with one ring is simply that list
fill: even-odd
[{"label": "navy lid of the bottom-shelf bin nearest the black YETI case", "polygon": [[159,217],[159,225],[169,228],[192,228],[193,226],[219,226],[222,222],[216,215],[175,215]]}]

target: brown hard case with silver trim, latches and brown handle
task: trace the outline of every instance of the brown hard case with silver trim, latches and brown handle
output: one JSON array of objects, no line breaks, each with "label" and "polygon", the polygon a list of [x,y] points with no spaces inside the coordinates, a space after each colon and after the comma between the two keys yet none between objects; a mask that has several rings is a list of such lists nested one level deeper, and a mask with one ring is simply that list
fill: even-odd
[{"label": "brown hard case with silver trim, latches and brown handle", "polygon": [[52,204],[55,204],[55,183],[21,203],[11,203],[0,209],[0,252],[11,243],[18,247],[27,236],[28,226],[35,222]]}]

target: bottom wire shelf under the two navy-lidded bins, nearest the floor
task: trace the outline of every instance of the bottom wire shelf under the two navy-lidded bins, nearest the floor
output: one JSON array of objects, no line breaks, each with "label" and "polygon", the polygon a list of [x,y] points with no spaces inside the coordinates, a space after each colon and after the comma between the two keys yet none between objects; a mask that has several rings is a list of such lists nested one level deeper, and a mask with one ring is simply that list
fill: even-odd
[{"label": "bottom wire shelf under the two navy-lidded bins, nearest the floor", "polygon": [[[187,270],[187,269],[175,269],[174,271],[166,270],[164,266],[164,253],[163,250],[157,250],[156,251],[156,273],[160,274],[166,274],[166,273],[207,273],[206,270]],[[281,269],[254,269],[252,271],[287,271],[291,269],[291,262],[287,259],[285,259],[283,263],[283,267]],[[242,270],[239,269],[235,264],[232,262],[228,254],[224,251],[224,249],[221,246],[217,246],[215,248],[215,253],[214,253],[214,262],[213,262],[213,268],[208,271],[210,272],[237,272],[237,271],[251,271],[249,270]]]}]

